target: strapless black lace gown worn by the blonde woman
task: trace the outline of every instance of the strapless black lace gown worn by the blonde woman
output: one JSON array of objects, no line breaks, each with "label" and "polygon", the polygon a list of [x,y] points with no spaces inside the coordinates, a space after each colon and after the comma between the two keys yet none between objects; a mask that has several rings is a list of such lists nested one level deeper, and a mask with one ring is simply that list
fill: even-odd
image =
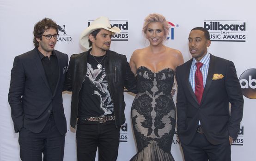
[{"label": "strapless black lace gown worn by the blonde woman", "polygon": [[175,105],[171,97],[175,72],[137,69],[138,94],[132,104],[132,123],[138,153],[130,161],[174,161]]}]

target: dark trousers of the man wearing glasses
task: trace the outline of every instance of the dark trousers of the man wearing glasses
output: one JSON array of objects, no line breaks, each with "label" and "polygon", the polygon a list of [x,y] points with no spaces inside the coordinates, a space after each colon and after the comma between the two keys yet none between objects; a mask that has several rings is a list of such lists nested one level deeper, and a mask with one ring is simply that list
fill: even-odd
[{"label": "dark trousers of the man wearing glasses", "polygon": [[18,137],[22,161],[63,161],[65,134],[58,131],[53,115],[39,133],[21,128]]}]

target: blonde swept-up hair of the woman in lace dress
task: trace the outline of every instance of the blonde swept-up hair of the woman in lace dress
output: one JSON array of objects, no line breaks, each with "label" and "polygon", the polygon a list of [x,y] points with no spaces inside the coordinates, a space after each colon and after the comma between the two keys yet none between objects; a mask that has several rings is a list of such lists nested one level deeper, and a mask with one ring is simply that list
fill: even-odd
[{"label": "blonde swept-up hair of the woman in lace dress", "polygon": [[164,33],[165,33],[165,39],[166,39],[167,35],[169,34],[169,29],[170,29],[171,26],[168,23],[168,21],[166,21],[165,17],[161,14],[158,14],[158,13],[149,14],[145,18],[145,22],[144,22],[143,29],[142,29],[145,37],[146,37],[146,30],[147,30],[148,24],[149,23],[157,23],[157,22],[162,23]]}]

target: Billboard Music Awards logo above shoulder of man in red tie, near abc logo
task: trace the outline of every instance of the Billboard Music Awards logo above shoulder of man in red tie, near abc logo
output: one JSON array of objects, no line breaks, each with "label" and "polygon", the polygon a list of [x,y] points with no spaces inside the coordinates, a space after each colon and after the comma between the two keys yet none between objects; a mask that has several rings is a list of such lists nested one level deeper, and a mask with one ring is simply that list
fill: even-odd
[{"label": "Billboard Music Awards logo above shoulder of man in red tie, near abc logo", "polygon": [[204,28],[211,41],[245,42],[246,22],[232,20],[204,20]]}]

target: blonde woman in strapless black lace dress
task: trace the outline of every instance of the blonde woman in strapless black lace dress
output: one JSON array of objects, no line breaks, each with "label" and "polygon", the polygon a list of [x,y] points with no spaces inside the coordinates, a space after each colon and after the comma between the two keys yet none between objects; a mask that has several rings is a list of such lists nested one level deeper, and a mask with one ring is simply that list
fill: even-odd
[{"label": "blonde woman in strapless black lace dress", "polygon": [[160,14],[145,18],[143,32],[150,45],[135,50],[130,66],[138,79],[132,105],[133,130],[138,153],[131,161],[174,161],[171,143],[175,132],[175,105],[171,97],[181,52],[163,45],[170,25]]}]

